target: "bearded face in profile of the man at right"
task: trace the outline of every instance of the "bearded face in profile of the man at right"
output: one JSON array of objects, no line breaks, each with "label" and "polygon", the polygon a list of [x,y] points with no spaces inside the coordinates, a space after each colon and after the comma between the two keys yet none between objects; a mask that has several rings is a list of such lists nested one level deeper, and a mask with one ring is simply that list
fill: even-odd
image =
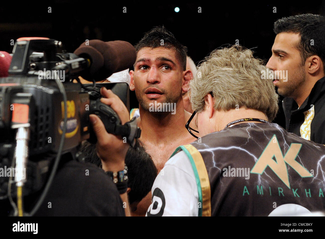
[{"label": "bearded face in profile of the man at right", "polygon": [[277,34],[272,56],[266,64],[267,68],[275,71],[273,84],[278,87],[278,93],[285,97],[294,97],[295,91],[305,82],[305,65],[301,64],[300,51],[296,48],[299,41],[299,33]]}]

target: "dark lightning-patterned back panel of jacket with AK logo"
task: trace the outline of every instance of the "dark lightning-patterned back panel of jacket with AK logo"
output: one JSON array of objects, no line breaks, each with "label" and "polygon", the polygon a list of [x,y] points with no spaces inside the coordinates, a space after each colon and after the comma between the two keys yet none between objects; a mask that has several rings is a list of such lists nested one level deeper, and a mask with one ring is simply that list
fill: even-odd
[{"label": "dark lightning-patterned back panel of jacket with AK logo", "polygon": [[212,216],[267,216],[295,204],[325,209],[325,146],[273,123],[242,123],[191,143],[211,187]]}]

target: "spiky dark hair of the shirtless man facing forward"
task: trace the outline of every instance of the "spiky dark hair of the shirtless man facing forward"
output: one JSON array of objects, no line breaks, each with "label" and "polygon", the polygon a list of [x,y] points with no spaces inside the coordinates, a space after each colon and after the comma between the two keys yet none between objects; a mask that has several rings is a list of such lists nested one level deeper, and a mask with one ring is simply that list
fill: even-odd
[{"label": "spiky dark hair of the shirtless man facing forward", "polygon": [[181,64],[181,69],[183,71],[186,70],[187,47],[177,41],[173,33],[169,32],[164,26],[152,28],[149,32],[145,33],[134,47],[136,48],[136,53],[143,47],[171,49],[175,51],[176,58]]}]

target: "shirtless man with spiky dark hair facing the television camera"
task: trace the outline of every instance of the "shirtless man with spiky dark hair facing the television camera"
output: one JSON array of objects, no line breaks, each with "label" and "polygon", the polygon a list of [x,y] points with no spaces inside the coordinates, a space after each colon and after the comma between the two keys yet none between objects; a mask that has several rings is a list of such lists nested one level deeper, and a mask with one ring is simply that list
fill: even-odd
[{"label": "shirtless man with spiky dark hair facing the television camera", "polygon": [[[182,98],[192,73],[186,70],[187,48],[164,27],[154,27],[135,48],[130,89],[139,101],[140,139],[159,172],[176,147],[194,141],[184,127],[190,114],[184,110]],[[148,194],[133,216],[144,216],[150,204]]]}]

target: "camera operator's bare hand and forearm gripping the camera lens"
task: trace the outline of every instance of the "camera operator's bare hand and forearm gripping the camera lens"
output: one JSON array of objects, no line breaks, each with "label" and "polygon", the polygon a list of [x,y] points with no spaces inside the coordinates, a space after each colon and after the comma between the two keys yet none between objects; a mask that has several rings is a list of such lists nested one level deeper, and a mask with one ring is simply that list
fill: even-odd
[{"label": "camera operator's bare hand and forearm gripping the camera lens", "polygon": [[[100,93],[107,98],[102,98],[101,102],[109,105],[117,113],[122,124],[130,120],[128,110],[117,95],[111,90],[107,90],[105,87],[100,89]],[[123,143],[122,137],[107,133],[103,122],[97,115],[91,114],[89,118],[97,136],[96,150],[102,161],[102,168],[105,172],[122,171],[125,164],[125,155],[130,145],[128,143]],[[120,194],[120,196],[122,201],[126,203],[125,215],[131,216],[127,193]]]}]

